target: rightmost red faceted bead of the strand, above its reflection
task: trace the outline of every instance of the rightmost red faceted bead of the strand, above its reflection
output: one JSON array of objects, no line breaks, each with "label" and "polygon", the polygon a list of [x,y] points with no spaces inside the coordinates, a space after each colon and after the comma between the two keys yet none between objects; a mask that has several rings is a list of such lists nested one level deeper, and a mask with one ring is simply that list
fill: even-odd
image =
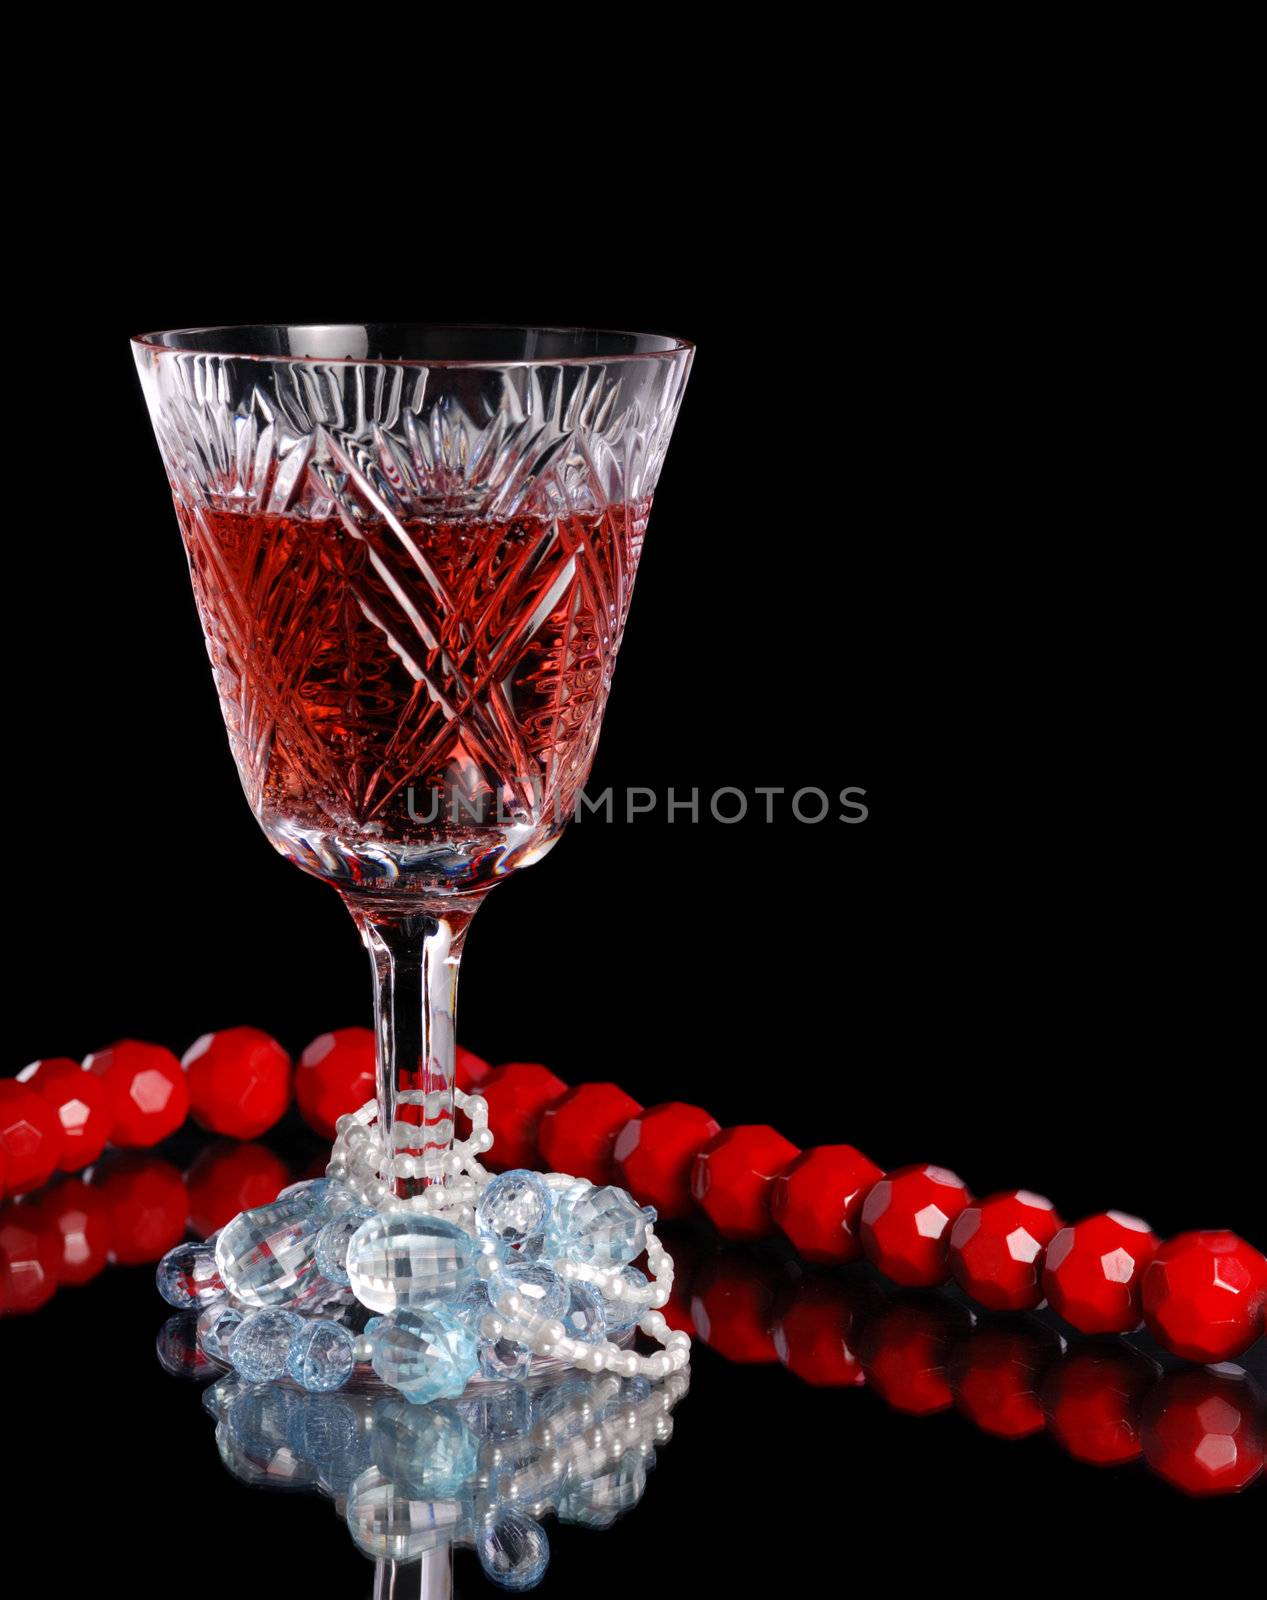
[{"label": "rightmost red faceted bead of the strand, above its reflection", "polygon": [[1149,1333],[1190,1362],[1230,1362],[1262,1333],[1267,1259],[1221,1229],[1177,1234],[1142,1278]]}]

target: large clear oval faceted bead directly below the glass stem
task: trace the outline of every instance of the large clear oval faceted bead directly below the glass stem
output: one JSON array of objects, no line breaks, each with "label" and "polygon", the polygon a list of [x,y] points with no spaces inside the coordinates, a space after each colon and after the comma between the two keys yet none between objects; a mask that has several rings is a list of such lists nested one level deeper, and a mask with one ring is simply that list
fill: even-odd
[{"label": "large clear oval faceted bead directly below the glass stem", "polygon": [[475,1277],[475,1240],[456,1222],[392,1211],[362,1222],[347,1246],[347,1278],[378,1312],[451,1299]]}]

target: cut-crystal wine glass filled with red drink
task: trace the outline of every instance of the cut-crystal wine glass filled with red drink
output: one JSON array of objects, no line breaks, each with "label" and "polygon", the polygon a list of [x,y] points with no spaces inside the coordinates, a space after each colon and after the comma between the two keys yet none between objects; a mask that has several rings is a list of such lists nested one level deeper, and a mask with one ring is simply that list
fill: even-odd
[{"label": "cut-crystal wine glass filled with red drink", "polygon": [[370,950],[408,1197],[446,1174],[470,918],[589,774],[693,349],[370,323],[133,354],[246,798]]}]

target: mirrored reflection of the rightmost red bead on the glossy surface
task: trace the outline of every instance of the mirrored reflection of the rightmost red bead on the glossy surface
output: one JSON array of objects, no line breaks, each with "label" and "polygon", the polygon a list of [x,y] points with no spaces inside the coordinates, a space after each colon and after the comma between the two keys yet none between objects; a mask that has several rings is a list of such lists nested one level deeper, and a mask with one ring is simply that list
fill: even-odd
[{"label": "mirrored reflection of the rightmost red bead on the glossy surface", "polygon": [[1144,1459],[1185,1494],[1235,1494],[1262,1472],[1262,1424],[1243,1373],[1168,1373],[1144,1402]]}]

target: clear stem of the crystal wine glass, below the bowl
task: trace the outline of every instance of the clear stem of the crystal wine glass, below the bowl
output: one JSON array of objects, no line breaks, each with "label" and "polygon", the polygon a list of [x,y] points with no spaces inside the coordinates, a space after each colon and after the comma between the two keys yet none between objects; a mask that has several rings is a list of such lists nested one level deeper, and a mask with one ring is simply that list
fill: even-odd
[{"label": "clear stem of the crystal wine glass, below the bowl", "polygon": [[453,1146],[458,968],[478,899],[419,907],[352,902],[374,970],[378,1125],[395,1160],[386,1174],[398,1198],[446,1179]]}]

